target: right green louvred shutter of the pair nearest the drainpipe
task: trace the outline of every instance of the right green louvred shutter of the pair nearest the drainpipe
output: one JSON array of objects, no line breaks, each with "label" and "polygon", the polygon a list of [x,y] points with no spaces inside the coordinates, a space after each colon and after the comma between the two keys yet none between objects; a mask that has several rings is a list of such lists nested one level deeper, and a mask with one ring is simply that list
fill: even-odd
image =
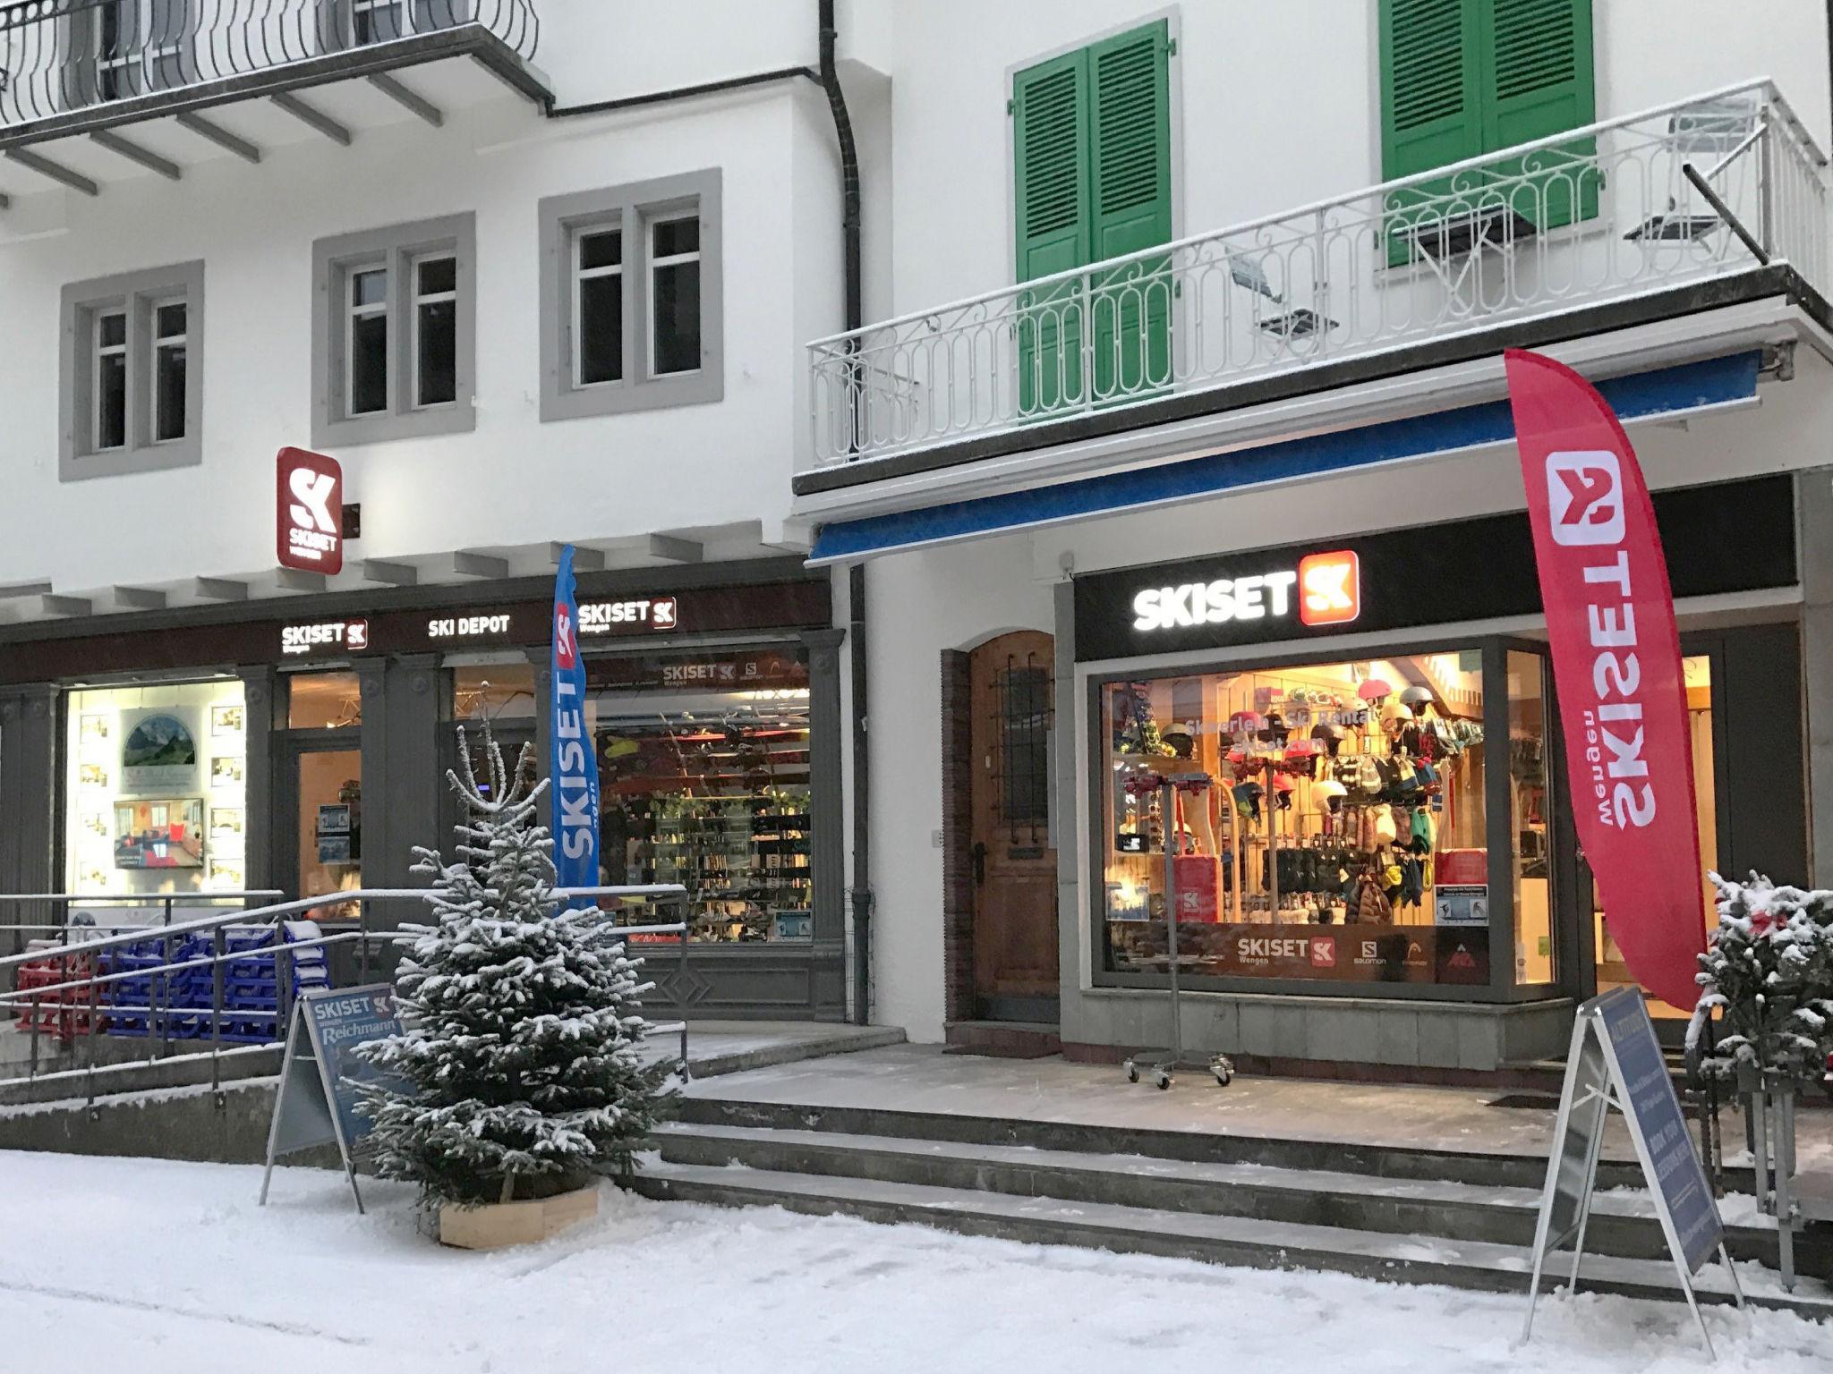
[{"label": "right green louvred shutter of the pair nearest the drainpipe", "polygon": [[[1164,20],[1089,48],[1092,260],[1171,242],[1171,40]],[[1091,282],[1096,399],[1171,381],[1171,260]]]}]

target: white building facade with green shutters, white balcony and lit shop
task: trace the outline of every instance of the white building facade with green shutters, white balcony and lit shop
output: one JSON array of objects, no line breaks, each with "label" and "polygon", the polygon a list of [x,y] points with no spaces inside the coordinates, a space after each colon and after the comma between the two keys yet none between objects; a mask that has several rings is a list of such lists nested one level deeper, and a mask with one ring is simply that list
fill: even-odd
[{"label": "white building facade with green shutters, white balcony and lit shop", "polygon": [[1820,7],[889,11],[794,506],[863,566],[874,1020],[1164,1046],[1173,903],[1184,1044],[1250,1064],[1494,1079],[1631,982],[1505,346],[1655,491],[1705,861],[1828,881]]}]

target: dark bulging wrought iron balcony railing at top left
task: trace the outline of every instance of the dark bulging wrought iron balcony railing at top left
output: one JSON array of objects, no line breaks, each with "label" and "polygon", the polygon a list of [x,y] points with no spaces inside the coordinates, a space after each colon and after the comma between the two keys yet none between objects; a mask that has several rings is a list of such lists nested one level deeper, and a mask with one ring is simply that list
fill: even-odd
[{"label": "dark bulging wrought iron balcony railing at top left", "polygon": [[535,55],[535,0],[0,4],[0,130],[473,24]]}]

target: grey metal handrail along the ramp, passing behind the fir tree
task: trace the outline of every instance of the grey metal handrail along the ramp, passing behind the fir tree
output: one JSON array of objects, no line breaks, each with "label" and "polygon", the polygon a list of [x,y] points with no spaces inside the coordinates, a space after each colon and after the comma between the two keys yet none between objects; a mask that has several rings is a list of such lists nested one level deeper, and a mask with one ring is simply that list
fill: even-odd
[{"label": "grey metal handrail along the ramp, passing behind the fir tree", "polygon": [[[55,945],[49,945],[49,947],[33,949],[33,951],[26,951],[22,954],[7,956],[7,958],[0,960],[0,969],[11,967],[11,965],[31,964],[31,962],[40,962],[42,964],[46,960],[92,958],[93,954],[108,951],[108,949],[145,945],[148,942],[159,942],[161,951],[165,954],[165,958],[163,958],[161,964],[156,964],[156,965],[150,965],[150,967],[123,969],[123,971],[114,971],[114,973],[99,973],[99,971],[92,969],[90,973],[86,973],[82,976],[66,978],[64,982],[46,984],[46,986],[31,987],[31,989],[15,989],[11,993],[0,993],[0,1009],[18,1011],[20,1008],[24,1008],[31,1015],[31,1057],[29,1057],[29,1064],[27,1064],[27,1074],[24,1075],[24,1079],[18,1079],[18,1077],[15,1077],[15,1079],[0,1079],[0,1083],[7,1083],[7,1081],[18,1083],[18,1081],[37,1081],[37,1079],[40,1079],[40,1074],[38,1074],[38,1037],[40,1037],[40,1033],[44,1030],[46,1013],[51,1015],[53,1022],[59,1020],[59,1019],[62,1019],[62,1017],[71,1017],[71,1019],[81,1017],[81,1019],[86,1020],[84,1039],[86,1039],[86,1042],[90,1046],[90,1050],[88,1050],[88,1066],[84,1070],[70,1070],[70,1072],[82,1072],[86,1075],[88,1099],[90,1101],[95,1099],[95,1081],[97,1081],[99,1074],[126,1072],[126,1070],[141,1068],[141,1066],[147,1066],[147,1064],[169,1063],[169,1061],[176,1061],[176,1059],[185,1059],[185,1061],[196,1061],[196,1059],[200,1059],[202,1055],[170,1055],[169,1050],[170,1050],[170,1041],[172,1041],[172,1022],[174,1022],[174,1019],[178,1019],[178,1017],[203,1017],[205,1015],[205,1008],[202,1008],[202,1006],[174,1008],[170,1004],[169,997],[165,1000],[161,1000],[161,989],[165,989],[167,995],[170,993],[170,978],[172,978],[172,975],[189,973],[189,971],[196,971],[196,969],[213,969],[213,978],[211,978],[211,1006],[207,1008],[207,1015],[209,1015],[209,1044],[211,1044],[209,1059],[211,1059],[211,1086],[213,1088],[220,1088],[222,1086],[222,1063],[220,1061],[222,1061],[222,1057],[225,1053],[236,1053],[236,1052],[247,1050],[247,1048],[264,1048],[264,1046],[231,1046],[231,1048],[225,1050],[224,1048],[224,1041],[222,1041],[222,1028],[224,1028],[225,1020],[273,1022],[273,1031],[271,1033],[277,1037],[279,1035],[279,1026],[284,1022],[284,1019],[288,1015],[291,1015],[291,998],[295,995],[293,993],[293,976],[295,976],[295,967],[297,967],[295,960],[297,960],[297,956],[301,953],[310,951],[310,949],[330,949],[330,947],[335,947],[335,945],[356,943],[357,945],[359,969],[361,969],[359,978],[367,980],[368,978],[368,951],[370,951],[372,945],[379,943],[379,945],[387,947],[387,945],[412,943],[414,940],[422,938],[422,934],[423,934],[423,927],[422,929],[396,929],[396,931],[370,931],[368,929],[368,901],[412,900],[412,901],[418,901],[418,903],[427,903],[427,901],[431,901],[434,898],[434,894],[436,894],[434,889],[427,889],[427,887],[412,887],[412,889],[350,889],[350,890],[345,890],[345,892],[326,892],[326,894],[315,896],[315,898],[302,898],[299,901],[280,901],[280,903],[273,903],[273,905],[268,905],[268,907],[222,912],[222,914],[216,914],[216,916],[205,916],[205,918],[189,920],[189,921],[174,921],[174,923],[169,923],[169,925],[141,925],[141,927],[132,927],[128,932],[115,934],[115,936],[103,936],[103,938],[97,938],[97,940],[81,940],[81,942],[68,942],[66,940],[66,942],[55,943]],[[680,883],[570,887],[570,889],[554,889],[554,894],[557,898],[561,898],[561,900],[572,900],[572,898],[592,898],[592,900],[618,898],[618,900],[647,900],[647,901],[686,901],[687,900],[687,889],[684,885],[680,885]],[[64,900],[68,896],[71,896],[71,894],[60,894],[60,892],[59,894],[37,894],[33,898],[27,898],[27,896],[22,896],[22,894],[0,894],[0,901],[4,901],[4,900],[38,900],[38,901],[42,901],[42,900]],[[139,896],[139,894],[136,894],[136,896]],[[165,898],[165,896],[172,896],[172,898],[189,896],[192,900],[207,900],[209,896],[224,896],[224,894],[158,894],[158,896],[159,898]],[[356,903],[356,909],[357,909],[356,929],[332,931],[330,934],[315,934],[315,936],[308,936],[304,940],[284,940],[284,938],[280,938],[273,945],[264,945],[264,947],[257,947],[257,949],[240,949],[240,951],[225,951],[224,949],[224,936],[225,936],[225,932],[229,929],[271,931],[271,932],[279,934],[280,921],[286,920],[288,916],[301,916],[304,912],[312,912],[312,911],[317,911],[317,909],[323,909],[323,907],[348,907],[350,903]],[[339,923],[343,923],[343,921],[324,921],[326,927],[335,927]],[[90,929],[97,929],[97,927],[64,927],[66,934],[70,931],[90,931]],[[172,938],[174,936],[176,938],[185,938],[185,936],[196,936],[196,934],[213,934],[214,936],[214,942],[213,942],[214,943],[214,951],[209,956],[174,960],[170,956],[170,953],[172,953],[170,951]],[[689,949],[689,943],[691,943],[689,938],[687,938],[689,936],[689,921],[686,918],[680,920],[680,921],[671,921],[671,923],[609,925],[607,931],[605,931],[607,940],[627,938],[627,936],[636,936],[636,934],[673,934],[673,936],[678,936],[678,958],[680,958],[682,969],[686,969],[687,949]],[[277,1006],[275,1006],[273,1011],[266,1011],[266,1009],[249,1009],[249,1011],[233,1009],[231,1011],[231,1009],[225,1009],[225,1006],[224,1006],[224,975],[222,975],[222,965],[231,964],[231,962],[238,962],[238,960],[271,960],[273,962],[273,965],[275,965],[275,986],[277,986]],[[148,987],[147,1006],[137,1006],[137,1004],[132,1004],[132,1006],[103,1004],[103,1000],[101,1000],[101,989],[104,986],[117,984],[117,982],[123,982],[123,980],[128,980],[128,978],[145,978],[147,980],[147,987]],[[651,987],[654,987],[653,982],[643,984],[643,987],[640,991],[649,991]],[[66,998],[64,993],[73,993],[73,995]],[[134,1015],[134,1017],[141,1017],[143,1015],[147,1019],[147,1041],[148,1041],[148,1055],[147,1055],[147,1059],[132,1059],[132,1061],[125,1061],[125,1063],[119,1063],[119,1064],[97,1064],[95,1063],[95,1037],[101,1033],[101,1022],[108,1015]],[[675,1020],[675,1022],[653,1022],[651,1030],[658,1031],[658,1033],[678,1033],[680,1035],[680,1063],[682,1063],[682,1072],[686,1072],[686,1064],[687,1064],[687,1020],[686,1020],[686,1017],[680,1019],[680,1020]],[[71,1041],[71,1039],[75,1039],[75,1035],[59,1035],[59,1039]],[[163,1053],[163,1055],[159,1053],[161,1046],[167,1050],[167,1053]],[[42,1075],[42,1077],[53,1077],[53,1075]],[[57,1074],[55,1077],[62,1077],[62,1074]]]}]

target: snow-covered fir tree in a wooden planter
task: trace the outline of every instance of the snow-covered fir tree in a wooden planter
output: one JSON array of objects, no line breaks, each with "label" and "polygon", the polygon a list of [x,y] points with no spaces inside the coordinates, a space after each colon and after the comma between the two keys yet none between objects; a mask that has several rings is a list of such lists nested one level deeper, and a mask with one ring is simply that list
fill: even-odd
[{"label": "snow-covered fir tree in a wooden planter", "polygon": [[416,848],[434,876],[436,923],[396,975],[403,1033],[365,1057],[411,1090],[376,1090],[367,1110],[383,1178],[427,1202],[546,1198],[594,1176],[627,1178],[667,1099],[669,1063],[645,1064],[638,962],[596,907],[563,909],[554,839],[537,824],[546,782],[513,775],[484,733],[486,779],[460,729],[447,780],[469,817],[456,861]]}]

